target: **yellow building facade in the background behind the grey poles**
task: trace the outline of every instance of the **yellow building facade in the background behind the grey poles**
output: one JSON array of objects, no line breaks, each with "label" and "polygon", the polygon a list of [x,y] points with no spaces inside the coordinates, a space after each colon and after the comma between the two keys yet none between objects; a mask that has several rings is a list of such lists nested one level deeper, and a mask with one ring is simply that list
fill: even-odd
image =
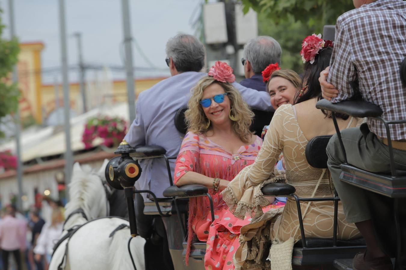
[{"label": "yellow building facade in the background behind the grey poles", "polygon": [[[55,110],[56,106],[63,106],[62,85],[58,87],[58,94],[55,85],[43,84],[41,80],[41,51],[44,44],[21,43],[18,55],[18,86],[21,91],[19,109],[22,120],[32,117],[36,123],[41,124],[48,115]],[[136,79],[134,92],[136,96],[166,77]],[[110,82],[86,83],[87,107],[92,108],[99,104],[108,102],[127,101],[127,88],[125,80],[113,80]],[[79,83],[69,84],[70,106],[77,114],[82,113],[82,99]]]}]

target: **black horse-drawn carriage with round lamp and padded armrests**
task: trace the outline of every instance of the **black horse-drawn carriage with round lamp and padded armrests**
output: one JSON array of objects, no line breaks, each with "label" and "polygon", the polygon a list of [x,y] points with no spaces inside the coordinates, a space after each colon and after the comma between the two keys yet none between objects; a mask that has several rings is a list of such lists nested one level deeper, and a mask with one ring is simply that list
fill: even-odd
[{"label": "black horse-drawn carriage with round lamp and padded armrests", "polygon": [[[406,85],[406,59],[402,62],[400,74],[402,82]],[[327,100],[320,100],[317,103],[317,108],[332,112],[338,135],[340,132],[337,121],[335,120],[335,113],[378,119],[382,121],[387,128],[391,172],[372,173],[345,163],[341,165],[343,172],[341,173],[340,180],[369,191],[370,197],[372,198],[371,207],[374,208],[373,222],[377,238],[383,250],[391,257],[395,257],[396,269],[405,269],[406,263],[404,261],[402,262],[402,257],[404,257],[406,253],[406,226],[404,225],[406,212],[405,208],[402,208],[400,205],[402,205],[402,202],[405,202],[406,198],[406,172],[396,170],[395,168],[389,125],[406,123],[406,120],[386,121],[380,117],[382,111],[378,106],[361,100],[350,100],[335,104]],[[177,130],[181,133],[186,133],[184,111],[185,108],[179,110],[174,123]],[[259,117],[257,117],[257,119],[259,119]],[[326,145],[330,137],[331,136],[318,136],[309,141],[306,148],[306,158],[309,164],[314,168],[327,168]],[[345,149],[340,136],[339,139],[345,156]],[[157,145],[133,148],[128,145],[127,142],[123,141],[115,153],[121,156],[114,157],[108,163],[106,167],[106,179],[112,187],[124,189],[132,236],[137,235],[137,220],[133,199],[134,193],[149,193],[151,198],[153,198],[151,202],[145,203],[145,215],[161,217],[177,215],[179,224],[182,224],[181,233],[184,239],[187,238],[187,234],[189,233],[187,231],[188,226],[186,225],[187,219],[182,218],[182,215],[187,216],[185,204],[188,198],[206,196],[210,202],[212,221],[214,220],[212,199],[207,187],[203,185],[184,185],[182,187],[173,185],[169,159],[176,157],[167,157],[165,149]],[[134,183],[142,173],[138,160],[150,158],[163,158],[164,162],[166,162],[168,175],[162,176],[168,177],[168,188],[163,193],[166,198],[157,198],[150,190],[134,190]],[[266,196],[287,196],[293,197],[296,201],[301,240],[294,246],[292,265],[334,265],[338,269],[351,269],[352,258],[356,253],[364,251],[366,246],[363,238],[348,241],[337,240],[337,208],[338,201],[340,200],[337,193],[331,198],[300,198],[295,194],[295,191],[293,186],[286,183],[270,183],[262,188],[262,192]],[[300,201],[309,202],[321,200],[334,202],[335,217],[333,235],[329,239],[305,237]],[[186,255],[186,245],[187,243],[184,242],[185,250],[183,255]],[[202,260],[205,255],[205,250],[205,242],[192,242],[190,257]],[[180,261],[183,261],[183,259],[183,257],[179,257]],[[350,266],[348,266],[348,264],[350,264]]]}]

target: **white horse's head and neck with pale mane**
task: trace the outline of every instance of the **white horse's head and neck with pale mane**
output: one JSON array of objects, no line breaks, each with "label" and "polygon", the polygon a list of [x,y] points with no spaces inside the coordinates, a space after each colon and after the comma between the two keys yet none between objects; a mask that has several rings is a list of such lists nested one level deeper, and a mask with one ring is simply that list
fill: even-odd
[{"label": "white horse's head and neck with pale mane", "polygon": [[73,165],[65,217],[78,209],[83,210],[87,220],[109,215],[108,199],[112,190],[104,177],[104,168],[107,163],[108,160],[105,159],[98,171],[92,170],[89,166],[80,166],[77,162]]}]

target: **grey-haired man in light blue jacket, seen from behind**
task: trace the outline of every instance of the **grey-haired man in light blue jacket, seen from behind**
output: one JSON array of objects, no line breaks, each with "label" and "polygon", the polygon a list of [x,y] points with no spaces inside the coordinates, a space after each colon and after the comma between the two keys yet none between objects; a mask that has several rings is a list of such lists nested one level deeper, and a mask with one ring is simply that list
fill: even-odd
[{"label": "grey-haired man in light blue jacket, seen from behind", "polygon": [[[136,119],[131,124],[125,140],[132,147],[142,145],[159,145],[166,149],[168,157],[176,157],[184,134],[180,134],[173,124],[173,119],[179,108],[186,106],[190,97],[190,89],[207,73],[201,72],[205,62],[205,48],[194,36],[178,34],[170,38],[166,43],[165,62],[171,72],[171,77],[160,81],[150,89],[143,91],[138,96],[136,103]],[[261,111],[271,111],[270,97],[267,92],[258,92],[248,89],[238,83],[234,86],[241,92],[242,97],[251,108]],[[214,97],[214,101],[224,100],[224,96]],[[207,105],[210,101],[204,101]],[[203,106],[205,105],[203,104]],[[270,119],[267,119],[269,123]],[[175,168],[175,160],[170,159],[171,171]],[[158,198],[164,198],[162,192],[169,187],[168,172],[164,159],[142,159],[139,164],[143,170],[138,181],[137,189],[149,189]],[[153,233],[152,216],[143,215],[143,201],[150,200],[147,194],[136,194],[136,218],[138,234],[147,239]],[[173,258],[175,269],[199,269],[190,260],[189,267],[183,262],[181,252],[183,250],[180,237],[180,224],[176,216],[162,218],[166,228],[169,249]],[[156,222],[156,218],[155,218]],[[158,232],[158,234],[160,234]],[[162,234],[161,234],[162,235]],[[146,256],[149,252],[156,250],[145,250]],[[153,254],[155,254],[153,253]],[[159,260],[158,260],[159,261]],[[148,269],[146,261],[146,268]],[[170,269],[168,266],[161,266],[159,269]]]}]

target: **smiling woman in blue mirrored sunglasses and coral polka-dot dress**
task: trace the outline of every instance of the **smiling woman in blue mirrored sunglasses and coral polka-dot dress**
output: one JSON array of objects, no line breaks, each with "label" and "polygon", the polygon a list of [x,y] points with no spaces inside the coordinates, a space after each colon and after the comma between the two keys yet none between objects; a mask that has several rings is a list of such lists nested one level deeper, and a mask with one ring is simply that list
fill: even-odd
[{"label": "smiling woman in blue mirrored sunglasses and coral polka-dot dress", "polygon": [[213,223],[206,197],[190,198],[189,202],[186,263],[196,234],[199,240],[207,241],[206,269],[233,268],[240,227],[250,220],[234,217],[220,191],[238,172],[253,164],[262,145],[261,138],[249,129],[254,114],[231,84],[234,80],[232,69],[226,63],[216,62],[208,76],[192,89],[185,113],[189,131],[175,163],[175,185],[205,185],[213,198]]}]

